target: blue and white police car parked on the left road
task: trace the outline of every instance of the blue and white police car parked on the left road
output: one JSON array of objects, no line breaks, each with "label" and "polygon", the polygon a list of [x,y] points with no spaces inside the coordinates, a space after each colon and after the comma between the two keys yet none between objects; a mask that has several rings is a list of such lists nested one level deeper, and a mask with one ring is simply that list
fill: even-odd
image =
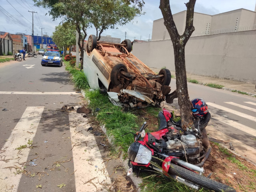
[{"label": "blue and white police car parked on the left road", "polygon": [[62,66],[62,56],[60,56],[60,53],[58,51],[47,51],[45,52],[41,65],[57,65],[59,67]]}]

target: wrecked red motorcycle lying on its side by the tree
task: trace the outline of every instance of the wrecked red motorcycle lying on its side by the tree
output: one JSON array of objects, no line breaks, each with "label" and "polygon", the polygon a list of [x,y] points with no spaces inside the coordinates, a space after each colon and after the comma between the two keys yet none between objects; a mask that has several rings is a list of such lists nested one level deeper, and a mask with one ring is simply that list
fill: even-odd
[{"label": "wrecked red motorcycle lying on its side by the tree", "polygon": [[[133,171],[137,173],[138,177],[142,171],[153,170],[164,173],[196,190],[202,187],[218,192],[236,191],[227,185],[203,176],[204,168],[201,166],[210,155],[211,148],[207,147],[206,152],[204,151],[203,142],[205,141],[202,140],[205,138],[205,134],[207,136],[207,133],[204,131],[205,129],[200,129],[199,118],[197,121],[197,128],[184,131],[179,124],[172,121],[172,113],[163,109],[158,114],[158,131],[146,133],[147,122],[144,122],[139,132],[136,134],[129,132],[134,134],[135,141],[128,149],[128,165],[130,168],[127,176],[132,174]],[[194,165],[188,162],[195,160],[201,160],[201,163]],[[154,166],[155,163],[162,169]]]}]

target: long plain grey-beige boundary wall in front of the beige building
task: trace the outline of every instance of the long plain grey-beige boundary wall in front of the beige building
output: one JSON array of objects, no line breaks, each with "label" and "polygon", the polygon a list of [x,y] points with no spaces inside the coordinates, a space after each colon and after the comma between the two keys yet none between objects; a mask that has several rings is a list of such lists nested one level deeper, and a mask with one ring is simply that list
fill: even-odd
[{"label": "long plain grey-beige boundary wall in front of the beige building", "polygon": [[[132,53],[149,67],[175,70],[171,40],[134,43]],[[256,30],[190,37],[188,73],[256,83]]]}]

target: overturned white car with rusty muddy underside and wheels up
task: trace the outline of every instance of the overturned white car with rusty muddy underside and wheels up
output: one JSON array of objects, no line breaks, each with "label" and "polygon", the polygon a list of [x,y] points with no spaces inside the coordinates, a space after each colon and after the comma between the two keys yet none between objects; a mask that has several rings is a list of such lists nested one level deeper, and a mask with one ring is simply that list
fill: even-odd
[{"label": "overturned white car with rusty muddy underside and wheels up", "polygon": [[97,41],[90,35],[84,51],[84,73],[92,89],[105,89],[115,105],[124,107],[160,107],[162,101],[172,103],[176,91],[169,87],[171,73],[158,74],[132,55],[129,39],[122,43]]}]

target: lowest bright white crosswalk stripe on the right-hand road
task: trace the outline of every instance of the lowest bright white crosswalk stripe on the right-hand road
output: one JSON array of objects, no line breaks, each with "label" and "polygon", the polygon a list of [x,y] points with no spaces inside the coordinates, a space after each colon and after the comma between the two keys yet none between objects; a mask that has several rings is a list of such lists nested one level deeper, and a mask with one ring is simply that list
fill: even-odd
[{"label": "lowest bright white crosswalk stripe on the right-hand road", "polygon": [[241,131],[244,131],[244,132],[246,132],[246,133],[256,137],[256,129],[253,129],[253,128],[245,126],[245,125],[242,125],[240,123],[237,123],[237,122],[235,122],[233,120],[227,119],[227,118],[222,117],[220,115],[214,114],[212,112],[211,112],[211,115],[212,115],[213,119],[216,119],[216,120],[218,120],[218,121],[220,121],[222,123],[225,123],[225,124],[227,124],[229,126],[232,126],[232,127],[236,128],[236,129],[239,129]]}]

